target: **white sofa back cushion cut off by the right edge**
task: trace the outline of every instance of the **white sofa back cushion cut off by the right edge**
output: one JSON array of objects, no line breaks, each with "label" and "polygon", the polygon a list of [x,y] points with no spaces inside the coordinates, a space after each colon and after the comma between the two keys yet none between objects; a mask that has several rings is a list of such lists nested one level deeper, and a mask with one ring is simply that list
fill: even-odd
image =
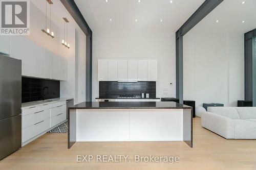
[{"label": "white sofa back cushion cut off by the right edge", "polygon": [[237,107],[241,119],[256,119],[256,107]]}]

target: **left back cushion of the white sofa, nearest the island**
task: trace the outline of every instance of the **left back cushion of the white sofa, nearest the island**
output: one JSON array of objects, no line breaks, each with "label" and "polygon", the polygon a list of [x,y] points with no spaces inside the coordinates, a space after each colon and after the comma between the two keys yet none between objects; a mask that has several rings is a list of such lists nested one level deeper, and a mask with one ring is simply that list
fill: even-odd
[{"label": "left back cushion of the white sofa, nearest the island", "polygon": [[231,119],[240,119],[236,107],[208,107],[208,112],[216,113]]}]

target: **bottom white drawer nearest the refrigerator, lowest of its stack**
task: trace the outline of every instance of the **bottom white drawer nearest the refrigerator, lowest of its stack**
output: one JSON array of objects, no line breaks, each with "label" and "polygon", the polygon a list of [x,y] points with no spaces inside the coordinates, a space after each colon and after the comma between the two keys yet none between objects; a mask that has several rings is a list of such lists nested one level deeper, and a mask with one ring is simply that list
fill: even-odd
[{"label": "bottom white drawer nearest the refrigerator, lowest of its stack", "polygon": [[24,128],[22,133],[22,142],[25,142],[35,137],[36,135],[39,135],[40,133],[45,132],[46,130],[50,129],[50,126],[51,126],[51,122],[50,122],[50,118],[48,118],[30,127]]}]

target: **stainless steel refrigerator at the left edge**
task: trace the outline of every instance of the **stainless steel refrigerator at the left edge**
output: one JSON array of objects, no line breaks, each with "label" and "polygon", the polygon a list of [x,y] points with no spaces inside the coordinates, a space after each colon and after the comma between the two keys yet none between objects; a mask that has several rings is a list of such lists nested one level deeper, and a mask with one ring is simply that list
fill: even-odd
[{"label": "stainless steel refrigerator at the left edge", "polygon": [[0,160],[21,148],[22,61],[0,54]]}]

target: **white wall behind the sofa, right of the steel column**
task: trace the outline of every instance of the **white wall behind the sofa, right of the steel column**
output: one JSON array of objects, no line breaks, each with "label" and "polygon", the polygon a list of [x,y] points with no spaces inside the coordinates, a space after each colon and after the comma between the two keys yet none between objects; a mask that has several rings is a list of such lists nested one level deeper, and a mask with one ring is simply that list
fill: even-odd
[{"label": "white wall behind the sofa, right of the steel column", "polygon": [[244,99],[243,34],[203,33],[183,37],[184,100],[237,106]]}]

